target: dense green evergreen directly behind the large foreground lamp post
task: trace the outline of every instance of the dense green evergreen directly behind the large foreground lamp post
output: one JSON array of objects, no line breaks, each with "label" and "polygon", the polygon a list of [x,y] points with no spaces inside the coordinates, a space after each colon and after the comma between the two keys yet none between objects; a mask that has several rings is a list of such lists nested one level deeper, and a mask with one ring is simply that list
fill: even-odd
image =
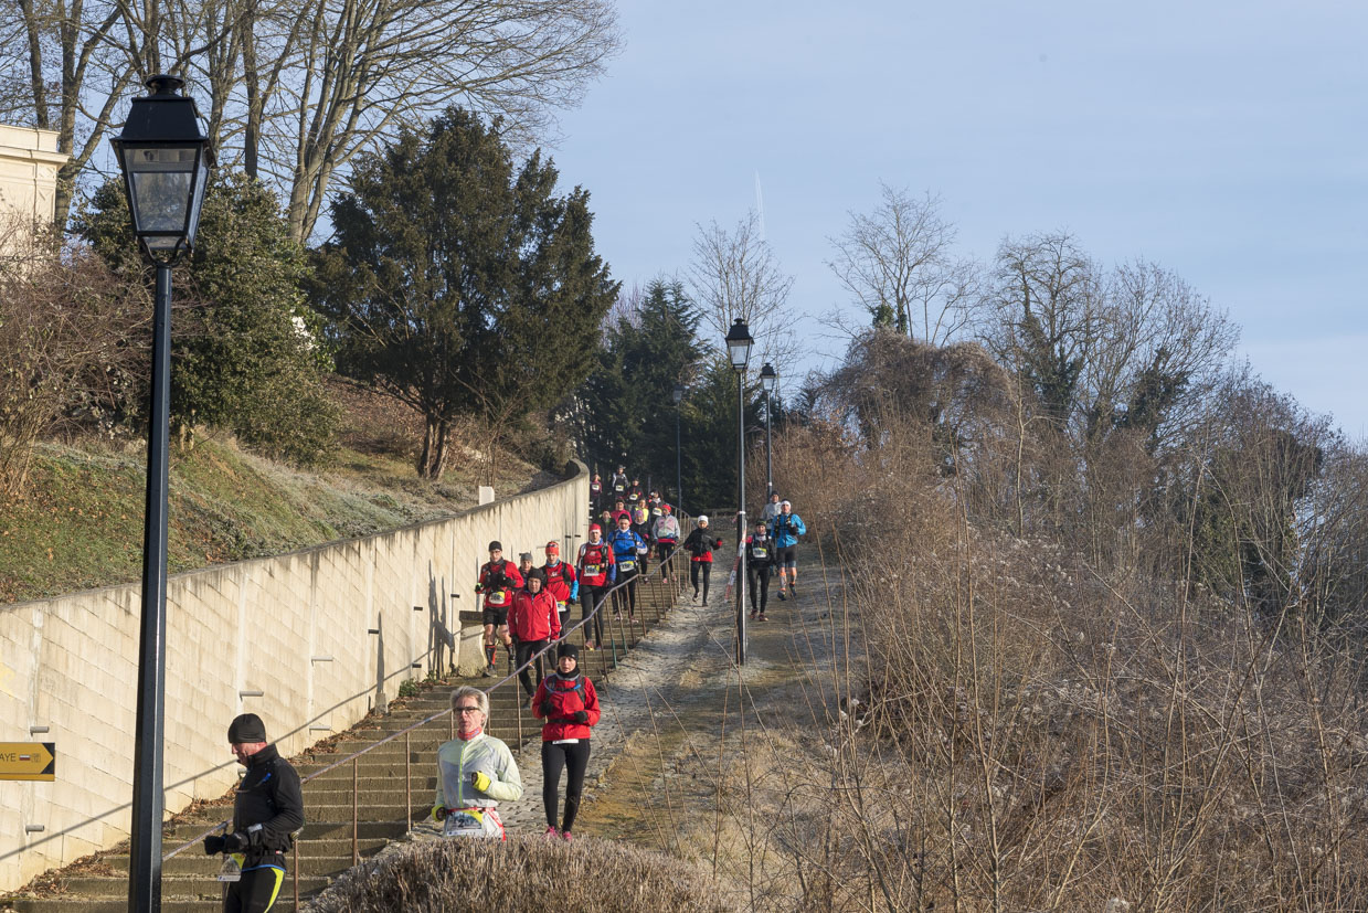
[{"label": "dense green evergreen directly behind the large foreground lamp post", "polygon": [[[150,272],[122,182],[104,183],[75,229],[120,272]],[[182,441],[193,441],[194,426],[211,424],[275,456],[321,460],[337,423],[323,386],[331,360],[305,303],[304,250],[269,188],[216,174],[187,267],[175,274],[182,307],[171,352],[171,422]]]}]

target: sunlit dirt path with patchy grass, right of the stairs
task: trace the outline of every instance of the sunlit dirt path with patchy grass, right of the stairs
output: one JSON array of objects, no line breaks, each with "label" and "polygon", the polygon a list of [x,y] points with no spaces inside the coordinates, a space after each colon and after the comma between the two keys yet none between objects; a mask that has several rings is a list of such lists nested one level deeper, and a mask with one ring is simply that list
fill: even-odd
[{"label": "sunlit dirt path with patchy grass, right of the stairs", "polygon": [[[605,739],[601,750],[595,734],[598,765],[591,765],[576,831],[698,854],[698,834],[717,831],[720,809],[731,808],[739,784],[748,782],[743,754],[784,751],[774,738],[776,730],[792,732],[787,724],[828,728],[844,691],[834,679],[847,667],[848,617],[839,571],[813,567],[815,549],[803,552],[798,598],[780,601],[772,587],[769,620],[748,621],[740,676],[735,601],[724,586],[706,606],[676,609],[614,672],[599,728],[620,736]],[[729,567],[714,572],[722,584]],[[687,834],[692,849],[683,846]]]}]

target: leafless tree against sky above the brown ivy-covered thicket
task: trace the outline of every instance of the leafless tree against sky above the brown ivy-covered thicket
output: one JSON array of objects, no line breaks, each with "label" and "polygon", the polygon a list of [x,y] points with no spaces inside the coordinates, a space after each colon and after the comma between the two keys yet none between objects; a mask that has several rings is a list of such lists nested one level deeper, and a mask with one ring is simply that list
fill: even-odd
[{"label": "leafless tree against sky above the brown ivy-covered thicket", "polygon": [[845,233],[830,240],[836,256],[826,266],[876,326],[944,345],[964,329],[979,298],[978,266],[952,255],[955,226],[940,216],[940,197],[918,200],[906,189],[878,186],[878,207],[850,214]]}]

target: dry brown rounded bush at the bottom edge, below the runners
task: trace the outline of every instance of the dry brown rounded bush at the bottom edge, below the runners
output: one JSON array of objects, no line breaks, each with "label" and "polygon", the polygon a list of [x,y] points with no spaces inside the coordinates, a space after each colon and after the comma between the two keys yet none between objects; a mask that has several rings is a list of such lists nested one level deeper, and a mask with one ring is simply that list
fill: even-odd
[{"label": "dry brown rounded bush at the bottom edge, below the runners", "polygon": [[317,913],[725,913],[707,875],[621,843],[542,838],[508,843],[440,840],[402,846],[324,892]]}]

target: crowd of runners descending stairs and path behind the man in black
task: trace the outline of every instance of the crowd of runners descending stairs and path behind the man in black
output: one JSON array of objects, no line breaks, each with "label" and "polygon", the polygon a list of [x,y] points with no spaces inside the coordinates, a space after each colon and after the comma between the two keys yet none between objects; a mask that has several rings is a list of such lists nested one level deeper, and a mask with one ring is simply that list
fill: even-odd
[{"label": "crowd of runners descending stairs and path behind the man in black", "polygon": [[[680,523],[672,505],[658,491],[643,491],[637,479],[628,479],[618,467],[605,485],[595,475],[590,486],[591,516],[588,538],[573,561],[561,558],[561,546],[551,541],[543,546],[544,564],[534,565],[524,552],[514,565],[503,557],[503,545],[490,542],[490,560],[480,568],[476,591],[484,597],[484,675],[497,675],[498,642],[508,650],[509,668],[520,669],[518,682],[525,693],[524,706],[531,706],[542,725],[542,802],[549,838],[573,839],[584,772],[588,767],[591,727],[599,720],[599,701],[594,683],[579,671],[579,647],[565,641],[569,630],[569,606],[579,601],[586,619],[584,649],[594,650],[603,638],[601,606],[613,590],[613,612],[636,617],[636,584],[648,569],[651,553],[662,563],[661,574],[669,580],[665,560],[676,546],[689,557],[689,583],[694,600],[707,602],[713,553],[722,548],[722,537],[711,528],[707,516],[699,516],[695,528],[680,541]],[[605,505],[611,506],[605,506]],[[631,506],[629,506],[631,505]],[[788,501],[770,497],[765,511],[750,531],[737,530],[737,557],[732,582],[740,567],[741,548],[750,583],[751,617],[766,620],[770,579],[777,571],[778,598],[798,595],[795,546],[807,532],[803,520]],[[744,535],[741,535],[744,534]],[[617,589],[614,589],[617,587]],[[540,656],[557,643],[555,669],[543,675]],[[532,663],[532,657],[536,661]],[[532,669],[536,671],[534,684]],[[438,794],[434,820],[451,836],[495,836],[506,839],[499,821],[499,801],[521,798],[523,786],[508,746],[487,734],[488,695],[479,689],[462,687],[451,693],[451,712],[458,716],[457,738],[438,753]],[[561,775],[566,773],[564,813],[558,814]]]}]

